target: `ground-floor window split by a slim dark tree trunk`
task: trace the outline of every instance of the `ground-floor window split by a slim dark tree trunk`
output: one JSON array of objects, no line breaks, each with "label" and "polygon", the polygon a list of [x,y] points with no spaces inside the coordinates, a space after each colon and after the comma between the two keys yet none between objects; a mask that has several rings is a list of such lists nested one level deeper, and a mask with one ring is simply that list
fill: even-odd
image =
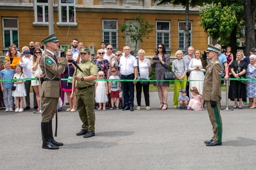
[{"label": "ground-floor window split by a slim dark tree trunk", "polygon": [[[179,50],[186,50],[185,49],[185,21],[178,22],[178,49]],[[189,46],[192,45],[192,22],[189,22]]]}]

